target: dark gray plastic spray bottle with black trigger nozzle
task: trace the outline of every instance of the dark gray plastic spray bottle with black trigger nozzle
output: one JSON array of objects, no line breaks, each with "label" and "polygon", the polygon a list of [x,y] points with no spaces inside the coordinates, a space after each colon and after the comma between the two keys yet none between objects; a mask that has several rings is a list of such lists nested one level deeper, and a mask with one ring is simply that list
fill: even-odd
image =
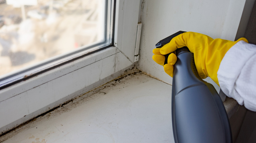
[{"label": "dark gray plastic spray bottle with black trigger nozzle", "polygon": [[[179,31],[157,44],[161,48]],[[168,54],[169,55],[169,54]],[[165,64],[167,57],[165,55]],[[187,47],[176,50],[173,71],[172,125],[176,143],[231,143],[226,110],[215,88],[203,81],[196,70],[194,54]]]}]

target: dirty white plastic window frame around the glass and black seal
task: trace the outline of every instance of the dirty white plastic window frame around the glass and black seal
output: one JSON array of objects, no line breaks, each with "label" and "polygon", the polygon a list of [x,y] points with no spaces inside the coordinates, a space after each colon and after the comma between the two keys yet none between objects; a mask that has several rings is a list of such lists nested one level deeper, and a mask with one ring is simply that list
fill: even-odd
[{"label": "dirty white plastic window frame around the glass and black seal", "polygon": [[0,134],[112,80],[132,67],[138,0],[116,0],[114,45],[0,90]]}]

